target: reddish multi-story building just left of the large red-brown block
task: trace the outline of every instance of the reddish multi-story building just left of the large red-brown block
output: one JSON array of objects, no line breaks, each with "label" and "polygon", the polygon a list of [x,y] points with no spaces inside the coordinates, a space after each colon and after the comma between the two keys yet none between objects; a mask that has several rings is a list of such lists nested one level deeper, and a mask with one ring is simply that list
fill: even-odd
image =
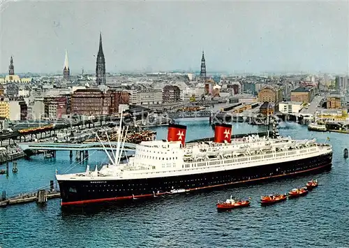
[{"label": "reddish multi-story building just left of the large red-brown block", "polygon": [[66,97],[45,97],[43,103],[45,105],[45,117],[50,119],[60,119],[62,115],[66,115]]}]

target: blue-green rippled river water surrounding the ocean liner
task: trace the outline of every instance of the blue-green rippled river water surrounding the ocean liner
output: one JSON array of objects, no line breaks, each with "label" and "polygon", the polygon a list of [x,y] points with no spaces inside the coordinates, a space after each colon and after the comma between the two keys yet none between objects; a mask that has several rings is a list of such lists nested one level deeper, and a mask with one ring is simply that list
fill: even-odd
[{"label": "blue-green rippled river water surrounding the ocean liner", "polygon": [[[207,119],[179,123],[188,127],[186,140],[213,136]],[[158,139],[166,138],[166,127],[154,130]],[[237,124],[233,131],[262,130]],[[280,133],[331,143],[332,170],[248,187],[68,211],[61,209],[59,199],[49,200],[45,207],[8,206],[0,209],[0,247],[349,247],[349,160],[343,159],[349,136],[309,132],[306,126],[292,123],[282,124]],[[100,166],[107,163],[107,156],[90,152],[88,163],[92,168]],[[68,152],[57,152],[56,159],[42,155],[21,159],[17,175],[0,175],[0,191],[6,190],[8,196],[36,191],[49,186],[56,169],[72,173],[85,168],[86,163],[70,161]],[[304,186],[311,177],[320,186],[303,198],[268,207],[258,203],[261,195]],[[251,197],[251,207],[217,212],[216,201],[230,195]]]}]

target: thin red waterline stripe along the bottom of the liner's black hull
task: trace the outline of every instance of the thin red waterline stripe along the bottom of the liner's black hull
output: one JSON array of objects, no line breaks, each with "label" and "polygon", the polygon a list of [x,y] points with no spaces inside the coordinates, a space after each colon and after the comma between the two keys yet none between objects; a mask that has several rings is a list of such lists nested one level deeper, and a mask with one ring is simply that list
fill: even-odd
[{"label": "thin red waterline stripe along the bottom of the liner's black hull", "polygon": [[[311,168],[309,170],[301,170],[301,171],[297,171],[295,173],[287,173],[287,174],[283,174],[283,175],[272,175],[270,177],[260,177],[260,178],[256,178],[256,179],[251,179],[251,180],[243,180],[243,181],[239,181],[239,182],[228,182],[226,184],[216,184],[216,185],[211,185],[211,186],[206,186],[206,187],[198,187],[198,188],[193,188],[193,189],[186,189],[186,191],[195,191],[195,190],[201,190],[201,189],[210,189],[210,188],[215,188],[215,187],[223,187],[223,186],[227,186],[227,185],[232,185],[232,184],[240,184],[240,183],[244,183],[244,182],[254,182],[254,181],[258,181],[258,180],[265,180],[265,179],[269,179],[269,178],[276,178],[276,177],[284,177],[287,175],[296,175],[299,173],[306,173],[309,172],[311,170],[318,170],[320,168],[324,168],[328,166],[328,164],[326,164],[325,166],[319,166],[316,168]],[[163,192],[163,193],[158,193],[155,194],[155,196],[162,196],[162,195],[166,195],[166,194],[170,194],[170,192]],[[87,204],[87,203],[101,203],[101,202],[107,202],[107,201],[115,201],[115,200],[131,200],[131,199],[139,199],[139,198],[150,198],[150,197],[154,197],[154,194],[144,194],[144,195],[139,195],[139,196],[118,196],[118,197],[112,197],[112,198],[101,198],[101,199],[93,199],[93,200],[77,200],[77,201],[70,201],[70,202],[66,202],[66,203],[61,203],[62,206],[66,206],[66,205],[83,205],[83,204]]]}]

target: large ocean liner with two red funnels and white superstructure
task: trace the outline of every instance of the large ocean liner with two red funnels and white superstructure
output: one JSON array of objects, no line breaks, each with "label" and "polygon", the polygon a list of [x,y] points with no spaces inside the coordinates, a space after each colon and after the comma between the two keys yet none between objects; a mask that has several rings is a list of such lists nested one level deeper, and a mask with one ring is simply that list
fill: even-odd
[{"label": "large ocean liner with two red funnels and white superstructure", "polygon": [[218,189],[304,173],[332,166],[332,146],[289,137],[231,138],[232,126],[217,124],[214,140],[185,143],[186,126],[171,124],[167,140],[143,141],[120,163],[127,129],[119,128],[110,163],[84,173],[56,175],[61,205],[152,198]]}]

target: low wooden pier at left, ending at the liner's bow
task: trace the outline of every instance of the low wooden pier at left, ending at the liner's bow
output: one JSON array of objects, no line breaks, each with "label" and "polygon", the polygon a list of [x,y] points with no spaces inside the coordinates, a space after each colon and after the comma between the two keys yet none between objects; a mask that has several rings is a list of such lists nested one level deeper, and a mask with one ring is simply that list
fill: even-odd
[{"label": "low wooden pier at left, ending at the liner's bow", "polygon": [[[6,194],[3,192],[3,198]],[[24,204],[24,203],[45,203],[49,199],[59,198],[61,194],[59,191],[46,191],[39,190],[38,193],[23,194],[19,196],[10,197],[8,199],[0,199],[0,207],[6,207],[8,205]]]}]

